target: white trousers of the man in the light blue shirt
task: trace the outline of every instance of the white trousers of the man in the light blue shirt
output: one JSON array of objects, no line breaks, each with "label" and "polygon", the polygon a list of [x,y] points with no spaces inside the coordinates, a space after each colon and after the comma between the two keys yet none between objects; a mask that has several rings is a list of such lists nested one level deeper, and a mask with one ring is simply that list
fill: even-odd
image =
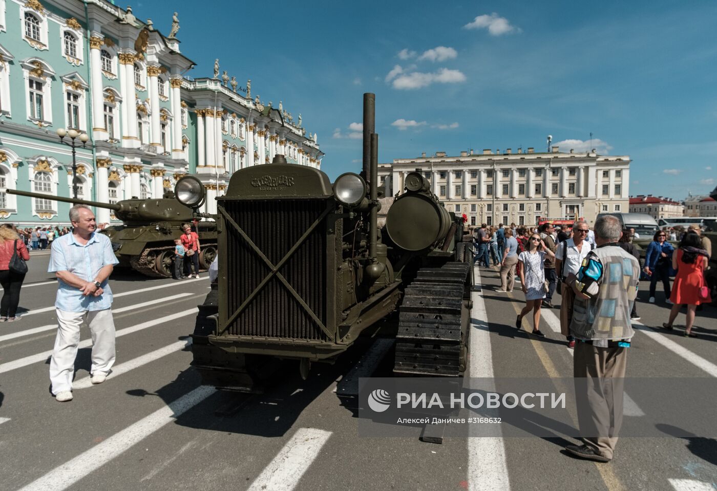
[{"label": "white trousers of the man in the light blue shirt", "polygon": [[75,376],[75,358],[80,346],[80,329],[89,326],[92,333],[91,374],[108,374],[115,363],[115,321],[112,309],[102,311],[57,312],[57,337],[54,339],[52,359],[49,361],[49,379],[52,394],[72,390]]}]

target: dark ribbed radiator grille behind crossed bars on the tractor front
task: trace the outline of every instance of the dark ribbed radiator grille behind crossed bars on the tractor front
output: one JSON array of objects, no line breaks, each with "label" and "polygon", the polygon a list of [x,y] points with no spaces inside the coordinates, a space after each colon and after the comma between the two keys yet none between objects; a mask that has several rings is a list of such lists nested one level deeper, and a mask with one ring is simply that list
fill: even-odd
[{"label": "dark ribbed radiator grille behind crossed bars on the tractor front", "polygon": [[[326,200],[224,201],[224,210],[266,258],[277,265],[315,220]],[[326,218],[279,268],[326,326]],[[227,230],[227,320],[270,273],[270,267],[230,223]],[[277,275],[228,326],[228,334],[326,341],[326,335]]]}]

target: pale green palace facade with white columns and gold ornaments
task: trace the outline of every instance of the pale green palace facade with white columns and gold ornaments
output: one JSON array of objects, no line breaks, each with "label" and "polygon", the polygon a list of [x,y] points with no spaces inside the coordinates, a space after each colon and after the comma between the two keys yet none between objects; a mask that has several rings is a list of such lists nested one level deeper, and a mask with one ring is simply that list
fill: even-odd
[{"label": "pale green palace facade with white columns and gold ornaments", "polygon": [[0,0],[0,223],[68,223],[67,203],[6,193],[72,196],[58,128],[90,136],[78,141],[75,183],[78,198],[102,203],[161,198],[192,173],[215,213],[236,170],[276,154],[320,167],[316,135],[282,102],[252,99],[251,82],[237,87],[218,61],[211,78],[187,76],[195,64],[179,50],[177,19],[172,27],[163,35],[105,0]]}]

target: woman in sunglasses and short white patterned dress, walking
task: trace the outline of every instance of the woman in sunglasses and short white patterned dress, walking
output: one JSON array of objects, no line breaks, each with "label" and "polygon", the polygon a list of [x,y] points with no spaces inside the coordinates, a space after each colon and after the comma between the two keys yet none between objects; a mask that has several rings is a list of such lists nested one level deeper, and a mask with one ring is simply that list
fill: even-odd
[{"label": "woman in sunglasses and short white patterned dress, walking", "polygon": [[540,308],[545,298],[545,269],[543,261],[545,256],[555,257],[553,251],[546,248],[545,243],[537,233],[531,234],[528,239],[528,248],[518,256],[518,274],[521,276],[521,286],[526,294],[526,306],[516,319],[516,327],[521,329],[523,317],[533,311],[533,336],[541,338],[545,334],[540,331]]}]

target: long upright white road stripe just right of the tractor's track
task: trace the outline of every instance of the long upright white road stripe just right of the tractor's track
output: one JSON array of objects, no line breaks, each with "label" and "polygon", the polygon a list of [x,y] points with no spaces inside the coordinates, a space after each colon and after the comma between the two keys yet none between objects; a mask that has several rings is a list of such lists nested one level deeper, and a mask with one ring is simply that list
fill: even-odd
[{"label": "long upright white road stripe just right of the tractor's track", "polygon": [[[480,283],[480,271],[473,268],[475,283]],[[478,324],[470,326],[470,376],[493,378],[493,352],[490,350],[490,332],[488,331],[488,313],[485,301],[478,292],[471,294],[473,308],[472,319]],[[495,387],[485,387],[495,391]],[[480,424],[471,425],[473,428]],[[502,437],[479,437],[469,435],[468,438],[468,486],[471,491],[479,490],[510,490],[508,479],[508,463],[505,462],[505,446]]]}]

